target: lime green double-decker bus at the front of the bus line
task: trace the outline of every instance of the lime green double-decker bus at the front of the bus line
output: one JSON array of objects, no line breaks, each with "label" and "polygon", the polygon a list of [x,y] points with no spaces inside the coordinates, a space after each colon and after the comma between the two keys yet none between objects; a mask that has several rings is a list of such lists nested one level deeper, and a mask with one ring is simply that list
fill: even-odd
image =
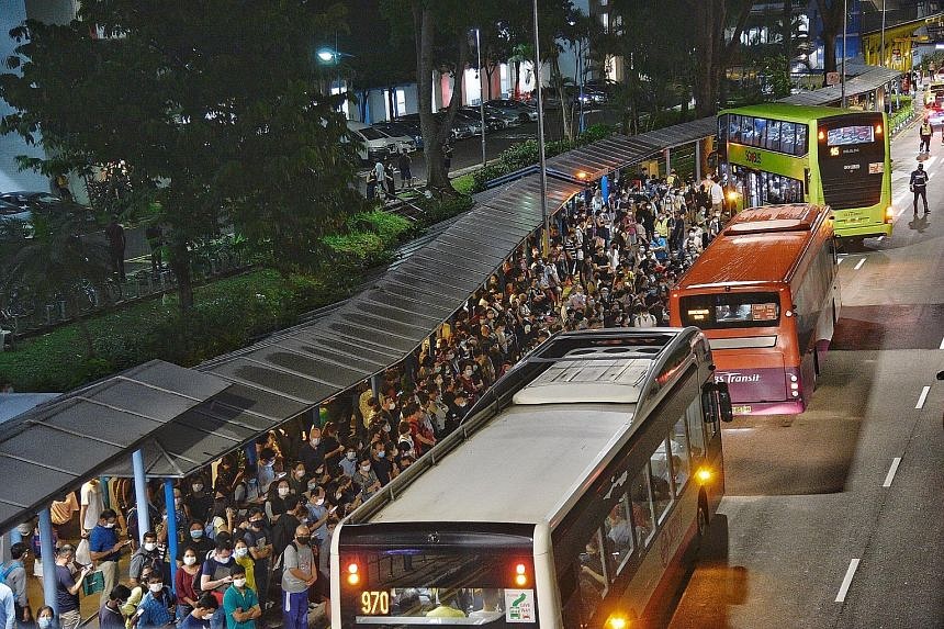
[{"label": "lime green double-decker bus at the front of the bus line", "polygon": [[891,235],[891,160],[883,112],[765,103],[718,115],[719,167],[745,207],[829,205],[843,238]]}]

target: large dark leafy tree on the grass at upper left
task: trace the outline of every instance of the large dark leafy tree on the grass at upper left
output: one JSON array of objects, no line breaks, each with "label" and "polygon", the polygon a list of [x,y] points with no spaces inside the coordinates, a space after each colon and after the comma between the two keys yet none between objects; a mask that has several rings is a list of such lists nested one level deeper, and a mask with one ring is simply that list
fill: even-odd
[{"label": "large dark leafy tree on the grass at upper left", "polygon": [[27,167],[123,162],[134,188],[153,190],[184,312],[190,249],[221,225],[283,271],[313,263],[319,235],[359,206],[340,99],[318,90],[312,49],[344,12],[314,4],[86,0],[68,25],[27,21],[0,76],[15,110],[0,131],[54,156]]}]

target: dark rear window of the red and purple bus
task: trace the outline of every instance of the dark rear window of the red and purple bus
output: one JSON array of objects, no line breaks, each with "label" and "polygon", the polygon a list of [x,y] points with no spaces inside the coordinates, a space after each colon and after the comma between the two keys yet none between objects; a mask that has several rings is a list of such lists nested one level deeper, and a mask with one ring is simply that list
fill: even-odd
[{"label": "dark rear window of the red and purple bus", "polygon": [[709,293],[682,297],[684,325],[701,329],[775,327],[780,321],[777,293]]}]

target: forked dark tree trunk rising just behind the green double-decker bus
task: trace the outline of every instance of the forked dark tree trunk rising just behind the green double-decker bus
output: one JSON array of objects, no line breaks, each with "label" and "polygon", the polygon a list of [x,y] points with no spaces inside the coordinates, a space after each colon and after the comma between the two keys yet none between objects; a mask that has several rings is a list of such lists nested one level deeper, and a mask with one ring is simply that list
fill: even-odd
[{"label": "forked dark tree trunk rising just behind the green double-decker bus", "polygon": [[741,43],[752,7],[751,0],[695,2],[695,109],[699,116],[718,111],[724,70]]}]

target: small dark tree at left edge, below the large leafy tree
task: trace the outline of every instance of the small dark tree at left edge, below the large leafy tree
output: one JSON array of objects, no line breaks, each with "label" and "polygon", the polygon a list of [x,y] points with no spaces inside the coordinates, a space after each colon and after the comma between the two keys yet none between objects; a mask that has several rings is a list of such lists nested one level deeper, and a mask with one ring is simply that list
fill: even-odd
[{"label": "small dark tree at left edge, below the large leafy tree", "polygon": [[76,316],[86,358],[91,358],[92,335],[80,313],[92,305],[90,293],[111,277],[111,263],[103,242],[78,235],[82,227],[83,217],[78,214],[35,213],[33,237],[2,249],[0,289],[4,293],[26,291],[36,307],[64,301]]}]

